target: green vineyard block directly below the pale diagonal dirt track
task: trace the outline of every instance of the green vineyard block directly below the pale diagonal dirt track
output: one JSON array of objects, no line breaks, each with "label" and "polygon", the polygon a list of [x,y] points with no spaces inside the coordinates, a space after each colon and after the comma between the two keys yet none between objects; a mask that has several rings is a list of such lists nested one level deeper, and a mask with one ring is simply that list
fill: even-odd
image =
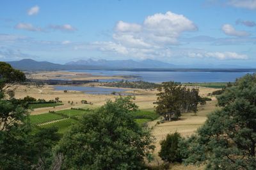
[{"label": "green vineyard block directly below the pale diagonal dirt track", "polygon": [[64,134],[71,127],[71,125],[76,122],[77,122],[76,120],[67,119],[67,120],[61,120],[54,123],[50,123],[47,125],[42,125],[40,127],[42,128],[58,127],[58,132],[60,134]]}]

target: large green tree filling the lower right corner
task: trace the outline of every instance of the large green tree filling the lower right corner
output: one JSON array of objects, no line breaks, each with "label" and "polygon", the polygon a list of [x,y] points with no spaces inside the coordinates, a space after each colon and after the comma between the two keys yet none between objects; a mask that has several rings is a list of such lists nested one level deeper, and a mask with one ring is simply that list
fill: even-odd
[{"label": "large green tree filling the lower right corner", "polygon": [[220,110],[209,114],[188,139],[186,164],[207,169],[256,169],[256,74],[247,74],[218,97]]}]

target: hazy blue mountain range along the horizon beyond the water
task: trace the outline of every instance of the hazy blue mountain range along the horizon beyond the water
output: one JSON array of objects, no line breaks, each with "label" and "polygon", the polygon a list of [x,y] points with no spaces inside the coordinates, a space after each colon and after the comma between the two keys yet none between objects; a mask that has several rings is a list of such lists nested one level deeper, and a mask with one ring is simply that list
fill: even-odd
[{"label": "hazy blue mountain range along the horizon beyond the water", "polygon": [[[173,65],[156,61],[153,59],[145,59],[143,61],[127,60],[79,60],[65,63],[65,65],[51,63],[48,61],[35,61],[33,59],[22,59],[20,61],[8,61],[14,68],[19,70],[184,70],[184,69],[230,69],[245,68],[244,66],[235,65]],[[189,68],[189,69],[188,69]],[[194,69],[195,70],[195,69]]]}]

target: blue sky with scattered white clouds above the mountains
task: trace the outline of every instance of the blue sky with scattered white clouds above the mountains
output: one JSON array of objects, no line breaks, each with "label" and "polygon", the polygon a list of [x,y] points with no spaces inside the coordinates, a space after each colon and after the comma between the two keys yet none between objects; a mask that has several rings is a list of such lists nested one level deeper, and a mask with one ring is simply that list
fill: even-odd
[{"label": "blue sky with scattered white clouds above the mountains", "polygon": [[0,61],[256,64],[256,0],[1,0]]}]

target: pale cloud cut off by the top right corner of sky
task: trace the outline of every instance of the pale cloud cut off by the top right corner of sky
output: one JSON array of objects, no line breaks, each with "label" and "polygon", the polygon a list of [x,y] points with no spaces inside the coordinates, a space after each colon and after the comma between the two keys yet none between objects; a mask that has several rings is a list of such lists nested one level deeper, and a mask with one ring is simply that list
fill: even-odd
[{"label": "pale cloud cut off by the top right corner of sky", "polygon": [[237,8],[256,10],[256,0],[229,0],[228,4]]}]

